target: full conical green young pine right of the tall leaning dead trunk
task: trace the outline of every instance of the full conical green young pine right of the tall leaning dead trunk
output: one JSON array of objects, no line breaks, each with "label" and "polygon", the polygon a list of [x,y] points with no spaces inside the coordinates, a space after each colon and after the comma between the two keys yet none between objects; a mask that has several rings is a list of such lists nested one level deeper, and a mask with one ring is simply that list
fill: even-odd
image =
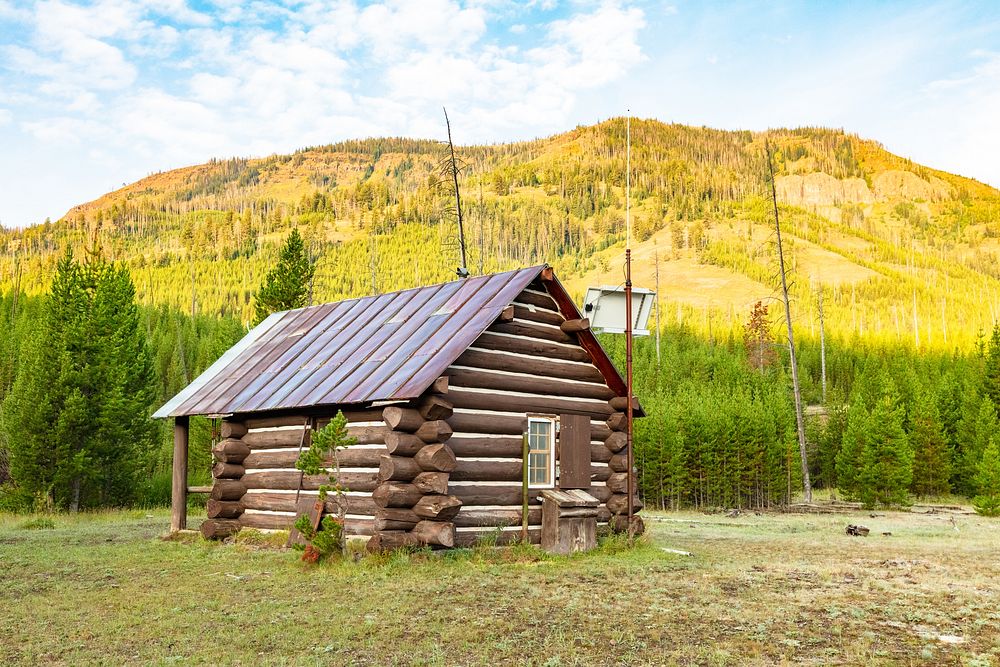
[{"label": "full conical green young pine right of the tall leaning dead trunk", "polygon": [[858,475],[859,497],[867,507],[905,505],[913,480],[913,450],[903,430],[903,409],[886,393],[871,412]]}]

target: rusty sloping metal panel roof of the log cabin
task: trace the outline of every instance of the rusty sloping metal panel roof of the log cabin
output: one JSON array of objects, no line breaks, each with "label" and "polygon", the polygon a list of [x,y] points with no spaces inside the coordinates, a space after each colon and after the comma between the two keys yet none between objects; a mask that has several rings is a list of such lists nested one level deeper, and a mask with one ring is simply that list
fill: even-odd
[{"label": "rusty sloping metal panel roof of the log cabin", "polygon": [[416,398],[544,268],[275,313],[153,416]]}]

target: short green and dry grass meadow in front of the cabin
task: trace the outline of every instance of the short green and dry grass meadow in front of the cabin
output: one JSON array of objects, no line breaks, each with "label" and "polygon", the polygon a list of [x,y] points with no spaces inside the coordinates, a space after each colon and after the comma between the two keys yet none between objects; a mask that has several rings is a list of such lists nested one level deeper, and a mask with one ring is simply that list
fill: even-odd
[{"label": "short green and dry grass meadow in front of the cabin", "polygon": [[162,540],[167,519],[0,515],[0,664],[1000,665],[1000,523],[977,516],[650,514],[634,549],[318,567],[260,534]]}]

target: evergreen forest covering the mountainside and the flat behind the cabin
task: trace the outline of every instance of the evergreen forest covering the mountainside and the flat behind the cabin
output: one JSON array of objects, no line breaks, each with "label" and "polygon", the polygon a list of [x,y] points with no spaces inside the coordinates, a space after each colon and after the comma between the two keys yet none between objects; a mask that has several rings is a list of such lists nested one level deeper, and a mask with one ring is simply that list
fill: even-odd
[{"label": "evergreen forest covering the mountainside and the flat behind the cabin", "polygon": [[[548,262],[576,297],[620,283],[624,129],[458,148],[469,270]],[[801,489],[767,140],[815,486],[1000,510],[1000,193],[835,130],[632,135],[636,275],[659,287],[661,334],[636,349],[646,504],[767,507]],[[166,503],[169,428],[148,416],[248,326],[455,279],[441,156],[369,139],[217,160],[0,231],[0,508]],[[623,362],[621,337],[602,342]],[[192,483],[211,438],[194,420]]]}]

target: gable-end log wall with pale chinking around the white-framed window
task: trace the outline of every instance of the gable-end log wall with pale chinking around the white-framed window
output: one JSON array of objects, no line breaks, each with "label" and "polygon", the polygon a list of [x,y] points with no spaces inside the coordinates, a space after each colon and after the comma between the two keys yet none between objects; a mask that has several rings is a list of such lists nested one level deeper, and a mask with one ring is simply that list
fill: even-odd
[{"label": "gable-end log wall with pale chinking around the white-framed window", "polygon": [[[628,496],[624,413],[616,408],[625,403],[580,346],[576,331],[584,326],[567,322],[545,285],[535,282],[515,299],[513,319],[494,323],[445,372],[454,406],[448,444],[457,461],[449,489],[462,501],[456,544],[520,536],[522,436],[532,413],[590,418],[591,486],[585,490],[601,501],[598,522],[620,527],[615,517],[627,512]],[[529,538],[537,543],[538,490],[529,499]]]}]

